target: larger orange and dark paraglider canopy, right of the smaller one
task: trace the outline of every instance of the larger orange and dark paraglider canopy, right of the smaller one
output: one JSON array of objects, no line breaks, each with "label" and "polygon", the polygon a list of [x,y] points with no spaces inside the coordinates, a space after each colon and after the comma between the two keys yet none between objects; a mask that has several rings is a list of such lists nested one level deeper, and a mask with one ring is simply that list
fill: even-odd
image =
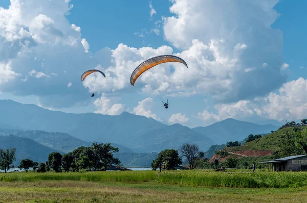
[{"label": "larger orange and dark paraglider canopy, right of the smaller one", "polygon": [[188,67],[188,65],[186,64],[186,62],[177,57],[177,56],[172,56],[172,55],[162,55],[162,56],[157,56],[157,57],[152,57],[146,61],[144,61],[143,63],[141,63],[131,74],[130,77],[130,83],[131,85],[134,86],[136,80],[140,77],[140,75],[145,72],[146,70],[159,65],[161,63],[167,63],[167,62],[178,62],[178,63],[182,63],[184,64],[186,67]]}]

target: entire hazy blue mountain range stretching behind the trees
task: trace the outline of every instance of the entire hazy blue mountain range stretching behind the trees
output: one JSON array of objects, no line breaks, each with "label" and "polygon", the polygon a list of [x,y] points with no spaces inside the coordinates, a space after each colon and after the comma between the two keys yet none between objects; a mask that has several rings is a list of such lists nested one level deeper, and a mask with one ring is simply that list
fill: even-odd
[{"label": "entire hazy blue mountain range stretching behind the trees", "polygon": [[[28,139],[28,144],[31,139],[35,142],[33,145],[47,147],[48,152],[51,149],[67,153],[81,145],[90,145],[93,141],[111,142],[113,146],[119,147],[120,153],[131,154],[136,159],[152,157],[140,153],[159,153],[166,148],[178,149],[187,142],[199,144],[201,150],[206,151],[211,145],[240,141],[249,134],[269,133],[278,129],[271,124],[259,125],[235,119],[190,129],[180,124],[165,125],[155,119],[127,112],[118,116],[73,114],[12,100],[0,100],[0,114],[0,136],[15,135]],[[2,139],[1,147],[8,147]]]}]

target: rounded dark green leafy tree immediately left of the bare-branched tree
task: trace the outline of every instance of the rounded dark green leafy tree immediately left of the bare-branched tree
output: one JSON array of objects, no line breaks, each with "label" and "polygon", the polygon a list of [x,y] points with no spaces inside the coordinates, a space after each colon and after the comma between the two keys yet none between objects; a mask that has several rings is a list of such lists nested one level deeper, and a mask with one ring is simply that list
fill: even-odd
[{"label": "rounded dark green leafy tree immediately left of the bare-branched tree", "polygon": [[174,167],[182,164],[182,160],[179,157],[179,153],[175,149],[165,149],[161,151],[158,157],[151,162],[152,170],[157,170],[159,164],[164,166],[166,170],[173,170]]}]

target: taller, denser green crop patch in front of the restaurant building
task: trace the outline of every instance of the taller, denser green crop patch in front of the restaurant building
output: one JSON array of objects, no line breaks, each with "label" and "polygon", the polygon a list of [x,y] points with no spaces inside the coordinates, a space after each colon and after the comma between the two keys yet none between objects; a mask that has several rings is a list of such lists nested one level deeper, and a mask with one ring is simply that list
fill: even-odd
[{"label": "taller, denser green crop patch in front of the restaurant building", "polygon": [[159,182],[205,187],[289,188],[307,186],[307,172],[167,171],[159,176]]}]

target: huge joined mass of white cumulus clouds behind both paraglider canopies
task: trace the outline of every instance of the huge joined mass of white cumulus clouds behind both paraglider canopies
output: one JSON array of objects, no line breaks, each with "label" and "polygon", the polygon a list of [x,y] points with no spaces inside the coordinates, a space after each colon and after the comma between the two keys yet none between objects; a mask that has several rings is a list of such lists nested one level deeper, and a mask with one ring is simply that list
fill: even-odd
[{"label": "huge joined mass of white cumulus clouds behind both paraglider canopies", "polygon": [[[65,18],[72,8],[70,1],[11,1],[9,9],[0,9],[0,63],[11,61],[13,77],[0,91],[38,95],[43,106],[52,108],[89,101],[82,93],[128,88],[131,92],[143,90],[148,97],[154,92],[149,90],[158,89],[171,96],[206,94],[217,103],[233,104],[268,94],[286,82],[280,71],[284,64],[282,34],[270,27],[278,16],[273,10],[277,1],[171,3],[170,12],[176,16],[163,18],[163,31],[179,53],[173,53],[170,46],[119,44],[92,54],[81,38],[81,28]],[[160,24],[156,21],[155,29],[159,30]],[[160,34],[158,30],[149,32]],[[131,72],[141,62],[164,54],[183,58],[189,68],[180,63],[161,64],[143,73],[134,87],[130,85]],[[80,74],[89,68],[102,70],[106,78],[94,73],[81,83]],[[13,72],[21,79],[15,80]],[[58,73],[57,77],[52,73]],[[52,80],[33,78],[45,75]],[[68,81],[74,88],[62,88]]]}]

